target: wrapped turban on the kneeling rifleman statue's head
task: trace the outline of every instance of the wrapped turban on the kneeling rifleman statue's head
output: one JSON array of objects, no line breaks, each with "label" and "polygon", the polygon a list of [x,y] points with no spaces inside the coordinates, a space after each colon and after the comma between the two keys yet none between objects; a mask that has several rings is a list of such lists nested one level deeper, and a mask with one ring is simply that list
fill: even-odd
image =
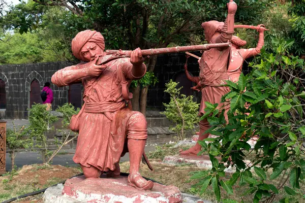
[{"label": "wrapped turban on the kneeling rifleman statue's head", "polygon": [[75,38],[72,40],[72,53],[79,60],[85,61],[85,58],[81,54],[81,48],[87,42],[96,43],[103,51],[105,50],[105,41],[104,37],[100,32],[92,31],[92,30],[84,30],[78,32]]}]

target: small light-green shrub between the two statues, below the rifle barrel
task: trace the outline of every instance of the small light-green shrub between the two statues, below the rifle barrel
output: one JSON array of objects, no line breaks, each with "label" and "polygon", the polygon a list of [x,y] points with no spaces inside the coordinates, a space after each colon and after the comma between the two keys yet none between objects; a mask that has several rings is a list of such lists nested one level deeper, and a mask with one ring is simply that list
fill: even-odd
[{"label": "small light-green shrub between the two statues, below the rifle barrel", "polygon": [[165,84],[165,92],[170,95],[169,104],[164,104],[165,112],[163,113],[170,121],[175,123],[171,129],[178,134],[179,140],[185,138],[185,130],[194,130],[194,124],[198,123],[197,115],[199,104],[193,101],[193,96],[180,94],[180,88],[176,88],[178,83],[172,80]]}]

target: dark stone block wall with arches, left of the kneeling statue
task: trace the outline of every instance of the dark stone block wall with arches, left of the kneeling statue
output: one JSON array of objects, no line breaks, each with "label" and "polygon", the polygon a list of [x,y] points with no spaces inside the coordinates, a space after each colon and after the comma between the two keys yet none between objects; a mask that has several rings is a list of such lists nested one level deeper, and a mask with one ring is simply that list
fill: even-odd
[{"label": "dark stone block wall with arches, left of the kneeling statue", "polygon": [[[0,79],[6,84],[6,109],[1,111],[0,117],[26,119],[32,81],[37,79],[42,90],[57,70],[69,65],[67,62],[0,65]],[[51,84],[51,89],[54,94],[52,108],[56,109],[67,102],[68,87]]]}]

